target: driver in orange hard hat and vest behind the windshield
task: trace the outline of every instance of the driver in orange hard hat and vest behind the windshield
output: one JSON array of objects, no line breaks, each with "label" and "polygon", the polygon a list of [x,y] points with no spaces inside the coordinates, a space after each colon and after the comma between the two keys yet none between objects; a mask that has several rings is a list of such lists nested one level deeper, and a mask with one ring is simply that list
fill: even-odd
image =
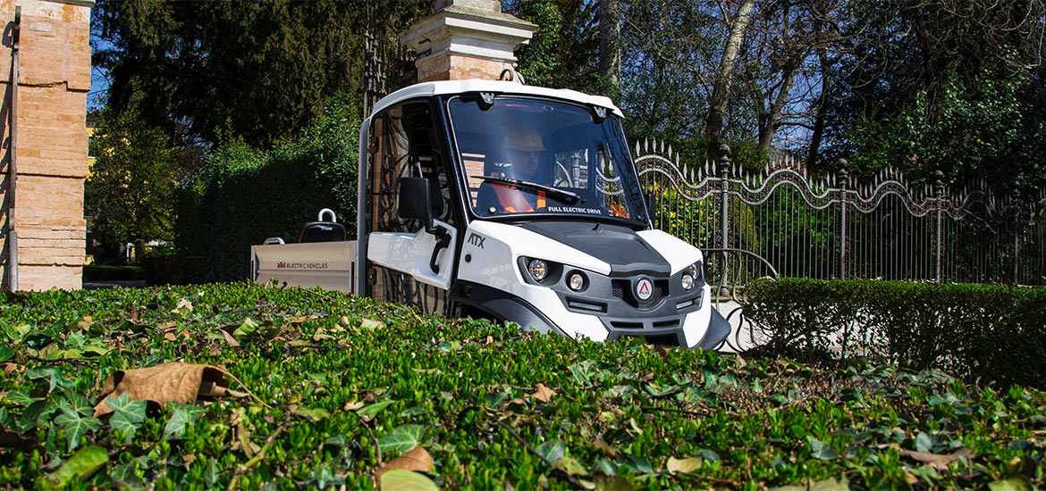
[{"label": "driver in orange hard hat and vest behind the windshield", "polygon": [[[541,135],[532,127],[519,126],[510,130],[505,136],[503,145],[505,160],[510,164],[506,177],[550,186],[552,180],[542,165],[545,150]],[[487,192],[481,192],[479,201],[488,204],[490,208],[501,209],[507,213],[525,213],[546,207],[545,191],[524,190],[504,183],[484,183],[484,187],[487,185],[490,186],[485,190]],[[491,190],[494,191],[494,196],[490,196]]]}]

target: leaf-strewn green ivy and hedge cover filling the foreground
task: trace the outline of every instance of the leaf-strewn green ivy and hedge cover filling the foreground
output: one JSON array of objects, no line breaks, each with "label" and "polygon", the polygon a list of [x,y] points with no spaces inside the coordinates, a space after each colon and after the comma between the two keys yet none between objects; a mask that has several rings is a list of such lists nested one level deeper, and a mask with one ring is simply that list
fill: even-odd
[{"label": "leaf-strewn green ivy and hedge cover filling the foreground", "polygon": [[[9,295],[0,331],[6,488],[1046,485],[1044,394],[941,373],[576,342],[247,283]],[[257,399],[124,395],[94,417],[107,377],[169,361],[224,366]]]}]

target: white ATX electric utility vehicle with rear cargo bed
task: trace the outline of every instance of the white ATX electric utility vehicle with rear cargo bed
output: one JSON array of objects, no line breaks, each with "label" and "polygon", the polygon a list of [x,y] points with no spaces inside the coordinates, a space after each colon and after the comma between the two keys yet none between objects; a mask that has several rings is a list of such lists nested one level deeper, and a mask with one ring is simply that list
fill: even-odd
[{"label": "white ATX electric utility vehicle with rear cargo bed", "polygon": [[730,326],[702,253],[653,228],[621,119],[606,97],[511,81],[396,91],[360,132],[358,239],[321,213],[298,243],[252,247],[253,279],[715,349]]}]

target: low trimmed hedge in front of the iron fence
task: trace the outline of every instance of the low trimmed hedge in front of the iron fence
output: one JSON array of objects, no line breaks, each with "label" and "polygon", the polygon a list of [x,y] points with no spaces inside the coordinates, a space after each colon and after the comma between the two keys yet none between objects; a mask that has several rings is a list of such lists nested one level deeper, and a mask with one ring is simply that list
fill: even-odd
[{"label": "low trimmed hedge in front of the iron fence", "polygon": [[745,315],[758,350],[802,360],[880,356],[968,380],[1046,387],[1046,288],[760,280]]}]

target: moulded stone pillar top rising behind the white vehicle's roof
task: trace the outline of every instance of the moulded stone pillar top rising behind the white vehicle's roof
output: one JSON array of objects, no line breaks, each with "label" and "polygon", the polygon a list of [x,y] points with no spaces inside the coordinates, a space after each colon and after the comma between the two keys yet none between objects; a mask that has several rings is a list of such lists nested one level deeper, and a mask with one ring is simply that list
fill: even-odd
[{"label": "moulded stone pillar top rising behind the white vehicle's roof", "polygon": [[417,81],[497,79],[538,27],[503,14],[498,0],[437,0],[435,9],[400,33],[417,53]]}]

